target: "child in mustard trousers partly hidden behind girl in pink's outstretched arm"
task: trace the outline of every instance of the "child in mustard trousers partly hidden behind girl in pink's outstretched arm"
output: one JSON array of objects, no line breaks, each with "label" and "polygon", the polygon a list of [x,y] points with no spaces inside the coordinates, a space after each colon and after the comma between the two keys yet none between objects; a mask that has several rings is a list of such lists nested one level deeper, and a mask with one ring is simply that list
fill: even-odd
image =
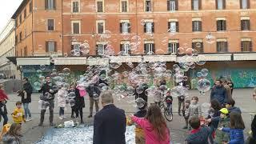
[{"label": "child in mustard trousers partly hidden behind girl in pink's outstretched arm", "polygon": [[[146,102],[142,98],[136,99],[136,105],[138,107],[138,112],[134,114],[135,117],[144,118],[146,116]],[[127,125],[131,126],[134,124],[132,121],[127,121]],[[136,126],[135,128],[135,143],[136,144],[144,144],[145,143],[145,136],[142,127]]]}]

